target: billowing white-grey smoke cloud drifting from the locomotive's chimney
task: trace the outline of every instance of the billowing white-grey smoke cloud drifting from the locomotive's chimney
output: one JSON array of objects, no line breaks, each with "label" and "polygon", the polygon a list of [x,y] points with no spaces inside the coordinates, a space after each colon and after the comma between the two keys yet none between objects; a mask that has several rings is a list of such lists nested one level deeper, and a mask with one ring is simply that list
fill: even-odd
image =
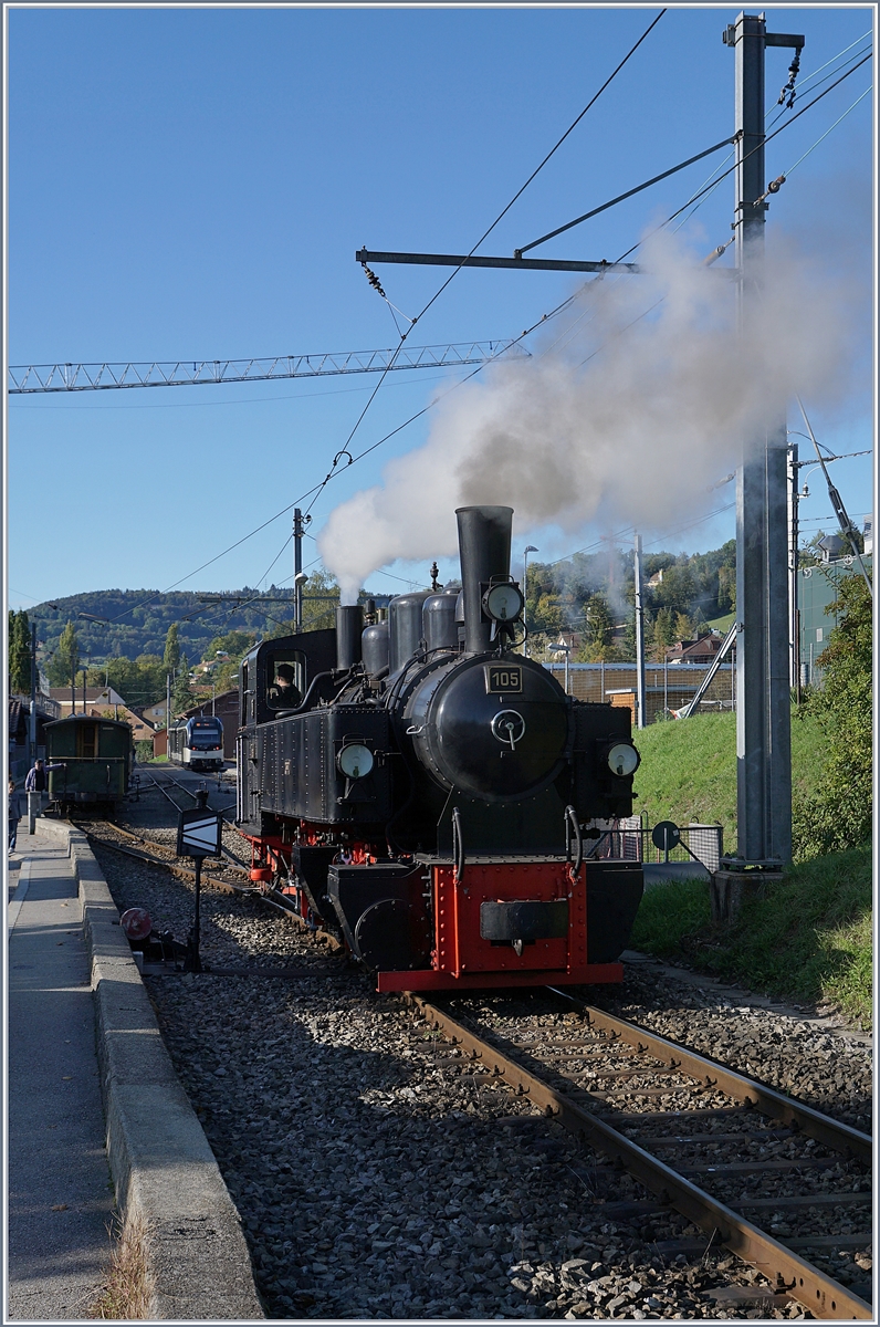
[{"label": "billowing white-grey smoke cloud drifting from the locomotive's chimney", "polygon": [[814,406],[845,393],[856,320],[839,273],[831,283],[769,251],[739,336],[722,269],[666,235],[645,243],[641,265],[592,281],[534,358],[454,391],[423,447],[332,512],[319,548],[344,602],[398,557],[453,555],[455,507],[469,503],[514,507],[520,533],[698,518],[795,393]]}]

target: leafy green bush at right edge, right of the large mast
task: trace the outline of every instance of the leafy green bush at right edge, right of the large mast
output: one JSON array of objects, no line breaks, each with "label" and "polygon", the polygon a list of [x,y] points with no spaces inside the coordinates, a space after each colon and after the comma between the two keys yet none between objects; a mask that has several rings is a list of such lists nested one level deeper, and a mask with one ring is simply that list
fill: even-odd
[{"label": "leafy green bush at right edge, right of the large mast", "polygon": [[838,598],[826,609],[840,618],[818,660],[823,687],[808,697],[803,711],[822,721],[827,759],[822,790],[794,805],[792,837],[800,857],[842,852],[871,839],[872,609],[861,576],[844,576]]}]

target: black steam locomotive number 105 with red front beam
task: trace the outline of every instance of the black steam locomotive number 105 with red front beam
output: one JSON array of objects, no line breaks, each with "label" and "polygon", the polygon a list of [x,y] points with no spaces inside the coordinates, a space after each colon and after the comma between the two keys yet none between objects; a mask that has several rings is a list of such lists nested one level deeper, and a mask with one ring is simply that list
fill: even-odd
[{"label": "black steam locomotive number 105 with red front beam", "polygon": [[638,863],[630,715],[515,653],[512,510],[457,512],[462,587],[360,605],[239,671],[238,827],[256,881],[341,936],[378,990],[613,982]]}]

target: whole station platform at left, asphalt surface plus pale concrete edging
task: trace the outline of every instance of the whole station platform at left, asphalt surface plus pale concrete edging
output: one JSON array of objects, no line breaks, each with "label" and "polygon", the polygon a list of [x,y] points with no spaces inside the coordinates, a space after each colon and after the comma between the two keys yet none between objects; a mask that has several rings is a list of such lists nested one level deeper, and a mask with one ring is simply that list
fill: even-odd
[{"label": "whole station platform at left, asphalt surface plus pale concrete edging", "polygon": [[[149,1299],[146,1312],[141,1300],[133,1304],[133,1316],[260,1319],[239,1214],[174,1072],[86,836],[52,819],[38,819],[35,835],[23,824],[19,851],[7,859],[1,1320],[96,1316],[121,1225],[137,1243]],[[106,1307],[126,1316],[127,1300],[117,1295]]]}]

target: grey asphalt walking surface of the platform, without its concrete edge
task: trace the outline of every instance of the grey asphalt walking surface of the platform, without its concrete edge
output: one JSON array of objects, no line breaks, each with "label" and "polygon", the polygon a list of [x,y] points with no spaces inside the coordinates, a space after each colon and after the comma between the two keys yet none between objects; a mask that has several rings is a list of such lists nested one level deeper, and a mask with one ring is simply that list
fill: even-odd
[{"label": "grey asphalt walking surface of the platform, without its concrete edge", "polygon": [[4,1322],[84,1319],[110,1258],[113,1184],[82,908],[66,844],[8,857],[8,1282]]}]

